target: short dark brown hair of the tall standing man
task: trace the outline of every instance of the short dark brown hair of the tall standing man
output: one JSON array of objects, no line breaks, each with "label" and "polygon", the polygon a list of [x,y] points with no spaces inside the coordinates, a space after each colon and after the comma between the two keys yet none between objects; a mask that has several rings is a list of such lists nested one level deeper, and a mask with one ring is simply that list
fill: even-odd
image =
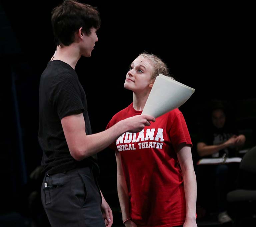
[{"label": "short dark brown hair of the tall standing man", "polygon": [[101,21],[96,7],[75,0],[65,0],[52,10],[52,28],[56,45],[69,46],[74,33],[82,27],[86,35],[91,28],[99,29]]}]

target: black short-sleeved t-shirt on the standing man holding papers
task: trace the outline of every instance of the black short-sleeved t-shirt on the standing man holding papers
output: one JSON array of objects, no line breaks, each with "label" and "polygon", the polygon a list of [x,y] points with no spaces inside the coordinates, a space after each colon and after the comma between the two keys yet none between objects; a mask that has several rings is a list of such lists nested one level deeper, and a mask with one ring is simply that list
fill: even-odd
[{"label": "black short-sleeved t-shirt on the standing man holding papers", "polygon": [[49,62],[39,86],[38,141],[43,150],[43,172],[53,174],[85,166],[99,171],[97,155],[76,161],[69,152],[61,119],[79,113],[83,113],[86,134],[92,134],[85,92],[76,72],[65,62]]}]

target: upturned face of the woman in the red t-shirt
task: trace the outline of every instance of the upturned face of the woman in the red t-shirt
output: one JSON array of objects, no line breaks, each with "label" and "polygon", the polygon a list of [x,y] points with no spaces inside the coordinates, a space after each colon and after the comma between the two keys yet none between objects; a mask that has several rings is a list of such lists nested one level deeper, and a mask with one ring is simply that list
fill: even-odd
[{"label": "upturned face of the woman in the red t-shirt", "polygon": [[152,80],[153,67],[151,61],[141,56],[131,64],[126,74],[124,88],[133,92],[150,92],[154,81]]}]

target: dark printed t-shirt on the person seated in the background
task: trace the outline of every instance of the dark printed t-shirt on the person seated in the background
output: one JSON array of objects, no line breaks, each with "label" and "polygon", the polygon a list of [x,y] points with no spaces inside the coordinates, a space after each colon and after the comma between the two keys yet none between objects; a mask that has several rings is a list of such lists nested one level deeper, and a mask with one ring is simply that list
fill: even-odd
[{"label": "dark printed t-shirt on the person seated in the background", "polygon": [[[230,126],[224,126],[223,128],[209,127],[201,131],[198,142],[204,142],[207,145],[218,145],[224,143],[230,139],[233,135],[238,135],[236,129]],[[234,147],[227,147],[225,149],[219,150],[218,152],[204,156],[204,158],[218,158],[222,157],[223,154],[226,154],[228,157],[236,156],[236,150]]]}]

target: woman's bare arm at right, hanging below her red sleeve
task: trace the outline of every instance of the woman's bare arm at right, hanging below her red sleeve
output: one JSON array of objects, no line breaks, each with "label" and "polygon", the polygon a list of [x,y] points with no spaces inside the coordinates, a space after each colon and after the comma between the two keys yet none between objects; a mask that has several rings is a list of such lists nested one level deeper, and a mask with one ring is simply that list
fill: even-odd
[{"label": "woman's bare arm at right, hanging below her red sleeve", "polygon": [[177,157],[183,174],[186,198],[186,220],[183,227],[196,227],[196,175],[190,146],[181,143],[177,148]]}]

